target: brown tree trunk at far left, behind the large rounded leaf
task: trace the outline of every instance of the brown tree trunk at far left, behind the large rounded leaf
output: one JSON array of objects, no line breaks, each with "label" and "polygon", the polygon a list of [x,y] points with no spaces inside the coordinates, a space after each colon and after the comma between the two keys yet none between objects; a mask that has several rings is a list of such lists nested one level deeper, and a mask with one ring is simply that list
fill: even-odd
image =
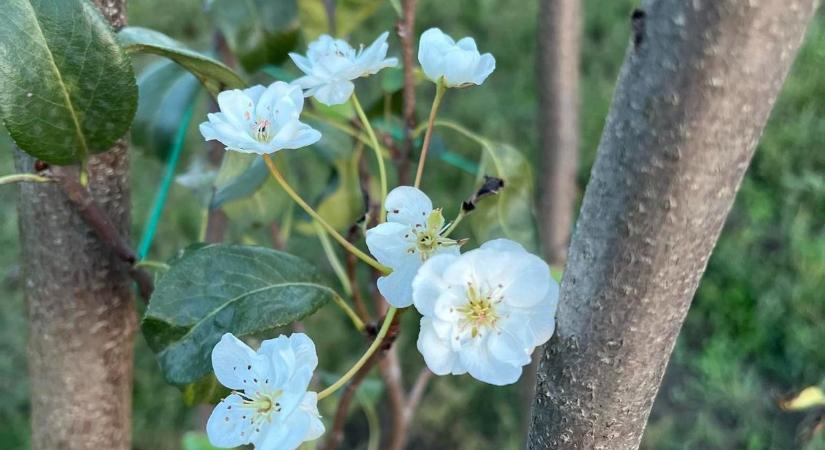
[{"label": "brown tree trunk at far left, behind the large rounded leaf", "polygon": [[[96,0],[115,26],[124,0]],[[89,162],[89,189],[129,235],[125,141]],[[33,159],[17,151],[17,169]],[[54,170],[69,170],[55,168]],[[136,326],[128,266],[54,184],[22,183],[18,203],[29,319],[33,449],[129,449]]]}]

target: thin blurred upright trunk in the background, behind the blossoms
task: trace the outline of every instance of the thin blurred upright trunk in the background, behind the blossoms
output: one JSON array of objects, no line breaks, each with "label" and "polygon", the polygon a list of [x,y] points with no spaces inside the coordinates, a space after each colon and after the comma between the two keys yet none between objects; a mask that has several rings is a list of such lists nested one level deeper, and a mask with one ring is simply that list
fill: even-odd
[{"label": "thin blurred upright trunk in the background, behind the blossoms", "polygon": [[541,0],[538,20],[541,231],[550,264],[563,266],[579,159],[581,0]]}]

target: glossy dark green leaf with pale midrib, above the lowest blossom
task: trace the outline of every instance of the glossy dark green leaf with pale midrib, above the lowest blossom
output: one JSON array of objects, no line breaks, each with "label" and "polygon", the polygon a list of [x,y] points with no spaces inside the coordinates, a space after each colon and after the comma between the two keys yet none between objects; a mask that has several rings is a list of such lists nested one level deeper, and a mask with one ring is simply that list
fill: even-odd
[{"label": "glossy dark green leaf with pale midrib, above the lowest blossom", "polygon": [[246,336],[287,325],[334,295],[310,263],[268,248],[207,245],[170,262],[142,329],[172,384],[208,374],[212,348],[224,333]]}]

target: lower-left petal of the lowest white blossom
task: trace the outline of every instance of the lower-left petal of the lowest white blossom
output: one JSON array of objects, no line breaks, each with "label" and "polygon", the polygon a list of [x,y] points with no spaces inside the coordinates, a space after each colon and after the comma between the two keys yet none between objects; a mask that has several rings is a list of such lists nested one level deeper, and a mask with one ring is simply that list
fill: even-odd
[{"label": "lower-left petal of the lowest white blossom", "polygon": [[[245,445],[256,437],[255,426],[250,422],[248,408],[243,399],[232,394],[215,405],[206,422],[206,435],[215,447],[232,448]],[[246,416],[246,417],[244,417]]]}]

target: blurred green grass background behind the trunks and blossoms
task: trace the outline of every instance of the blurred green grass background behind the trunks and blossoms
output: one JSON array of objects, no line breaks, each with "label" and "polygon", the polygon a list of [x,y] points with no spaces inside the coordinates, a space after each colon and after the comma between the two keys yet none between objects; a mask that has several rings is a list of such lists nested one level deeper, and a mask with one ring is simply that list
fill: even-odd
[{"label": "blurred green grass background behind the trunks and blossoms", "polygon": [[[537,3],[520,1],[516,7],[507,0],[420,0],[417,23],[419,33],[440,26],[454,36],[474,36],[482,51],[492,52],[497,59],[497,70],[483,87],[448,96],[442,117],[509,142],[533,162],[537,160]],[[628,42],[628,17],[636,6],[629,0],[584,3],[578,176],[582,190]],[[395,20],[391,5],[384,3],[353,33],[352,42],[368,42],[380,31],[392,31]],[[201,49],[209,48],[215,29],[201,0],[130,0],[129,22],[159,29]],[[305,43],[298,45],[303,48]],[[390,46],[391,53],[400,53],[394,33]],[[773,111],[694,299],[654,406],[644,448],[825,449],[825,411],[790,413],[777,406],[778,400],[803,387],[825,384],[823,64],[825,14],[820,13]],[[419,117],[424,117],[431,95],[429,85],[419,89]],[[200,120],[196,114],[193,123]],[[444,139],[444,145],[458,154],[477,154],[466,140]],[[205,152],[196,127],[190,127],[187,142],[185,163]],[[8,137],[0,135],[3,174],[14,170],[10,144]],[[132,231],[136,241],[163,163],[140,149],[134,152],[133,161]],[[456,203],[459,199],[455,198],[452,177],[461,172],[443,161],[432,163],[429,169],[441,174],[428,181],[433,197]],[[469,193],[472,177],[464,175],[461,180],[459,185]],[[26,322],[15,188],[0,189],[0,448],[17,449],[28,446]],[[152,259],[164,260],[198,238],[202,209],[196,196],[175,185],[169,201],[174,207],[167,208],[163,216],[150,253]],[[233,228],[229,239],[260,242],[266,233]],[[306,249],[316,246],[315,242],[298,239],[290,249],[309,251]],[[318,339],[322,367],[343,369],[349,358],[358,354],[360,338],[345,326],[333,308],[307,321],[310,333],[313,328],[324,329]],[[422,362],[411,337],[415,335],[414,318],[406,317],[404,327],[410,332],[402,334],[406,337],[400,345],[410,383]],[[185,407],[180,392],[163,381],[142,337],[138,336],[136,346],[135,448],[182,448],[183,433],[197,431],[204,412]],[[431,383],[417,413],[410,448],[521,447],[523,387],[493,388],[469,381],[445,377]],[[379,407],[382,402],[379,400]],[[327,417],[332,414],[329,406],[322,406]],[[357,409],[348,431],[349,448],[364,448],[367,423]],[[386,433],[388,427],[383,431]]]}]

